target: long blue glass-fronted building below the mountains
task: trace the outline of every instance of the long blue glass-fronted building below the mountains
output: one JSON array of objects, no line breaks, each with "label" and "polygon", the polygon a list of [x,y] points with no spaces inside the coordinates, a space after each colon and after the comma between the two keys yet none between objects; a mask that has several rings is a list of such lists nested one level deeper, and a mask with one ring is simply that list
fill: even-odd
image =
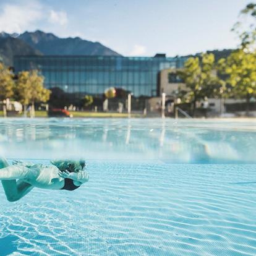
[{"label": "long blue glass-fronted building below the mountains", "polygon": [[99,95],[106,88],[130,91],[134,96],[157,96],[158,74],[170,67],[179,68],[186,58],[122,56],[15,56],[15,72],[38,69],[46,88],[65,92]]}]

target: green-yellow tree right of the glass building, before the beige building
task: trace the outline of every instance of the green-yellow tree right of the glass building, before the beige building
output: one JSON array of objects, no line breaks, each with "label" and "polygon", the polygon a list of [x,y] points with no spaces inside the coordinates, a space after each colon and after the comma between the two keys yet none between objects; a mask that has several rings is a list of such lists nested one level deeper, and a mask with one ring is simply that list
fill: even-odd
[{"label": "green-yellow tree right of the glass building, before the beige building", "polygon": [[184,69],[177,70],[177,75],[186,83],[189,92],[186,98],[192,103],[192,116],[195,114],[196,103],[205,96],[211,96],[216,88],[215,58],[213,54],[203,54],[202,58],[189,58]]}]

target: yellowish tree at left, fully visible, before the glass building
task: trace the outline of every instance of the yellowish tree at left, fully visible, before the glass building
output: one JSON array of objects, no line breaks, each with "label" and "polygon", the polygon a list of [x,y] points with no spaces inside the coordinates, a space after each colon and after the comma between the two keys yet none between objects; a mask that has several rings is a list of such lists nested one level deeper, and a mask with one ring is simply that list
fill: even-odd
[{"label": "yellowish tree at left, fully visible, before the glass building", "polygon": [[35,116],[35,102],[49,100],[50,91],[43,87],[43,76],[37,70],[22,71],[18,75],[16,94],[17,100],[22,103],[24,114],[27,116],[27,105],[32,104],[31,116]]}]

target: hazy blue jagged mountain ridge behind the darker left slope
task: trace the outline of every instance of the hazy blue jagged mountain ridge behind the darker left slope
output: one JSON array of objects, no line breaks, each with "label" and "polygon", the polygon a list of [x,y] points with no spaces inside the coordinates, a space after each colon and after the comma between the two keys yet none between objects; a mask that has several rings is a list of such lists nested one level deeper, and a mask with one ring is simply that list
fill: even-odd
[{"label": "hazy blue jagged mountain ridge behind the darker left slope", "polygon": [[46,55],[120,56],[120,54],[98,42],[83,40],[79,37],[59,38],[52,33],[45,33],[40,30],[25,32],[18,38]]}]

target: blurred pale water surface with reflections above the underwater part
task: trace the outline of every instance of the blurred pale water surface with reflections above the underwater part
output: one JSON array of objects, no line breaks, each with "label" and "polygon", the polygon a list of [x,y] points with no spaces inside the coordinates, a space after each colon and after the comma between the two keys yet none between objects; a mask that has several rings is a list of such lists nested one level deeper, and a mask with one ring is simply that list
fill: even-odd
[{"label": "blurred pale water surface with reflections above the underwater part", "polygon": [[174,119],[1,119],[7,158],[256,163],[256,122]]}]

